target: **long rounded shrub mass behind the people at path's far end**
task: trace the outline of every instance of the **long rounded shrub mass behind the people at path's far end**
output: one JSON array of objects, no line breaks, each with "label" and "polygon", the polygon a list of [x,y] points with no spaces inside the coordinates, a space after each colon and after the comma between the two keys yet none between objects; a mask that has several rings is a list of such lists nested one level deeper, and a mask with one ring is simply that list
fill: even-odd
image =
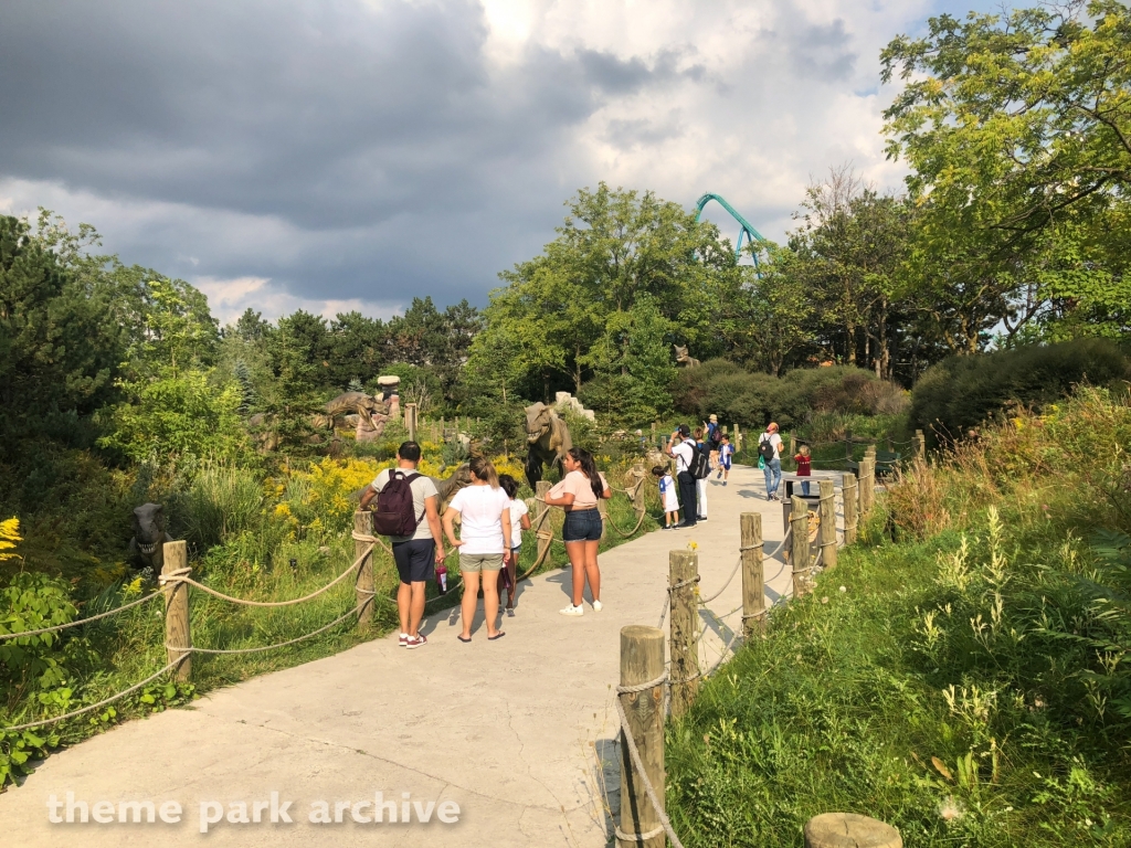
[{"label": "long rounded shrub mass behind the people at path's far end", "polygon": [[676,409],[706,419],[760,429],[776,421],[783,430],[803,426],[819,413],[896,414],[906,407],[906,393],[871,371],[836,366],[797,369],[783,377],[748,372],[711,360],[684,369],[672,386]]}]

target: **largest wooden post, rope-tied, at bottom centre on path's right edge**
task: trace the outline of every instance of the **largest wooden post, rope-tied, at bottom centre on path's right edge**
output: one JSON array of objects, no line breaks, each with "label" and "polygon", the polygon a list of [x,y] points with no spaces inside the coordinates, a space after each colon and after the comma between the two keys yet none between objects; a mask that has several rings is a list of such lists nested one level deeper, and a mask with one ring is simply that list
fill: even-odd
[{"label": "largest wooden post, rope-tied, at bottom centre on path's right edge", "polygon": [[[621,685],[639,686],[664,675],[664,631],[642,624],[621,628]],[[664,804],[664,684],[642,692],[619,694],[636,742],[648,782],[656,799]],[[621,833],[616,848],[664,848],[667,837],[659,823],[657,810],[648,801],[644,780],[632,754],[624,729],[621,729]],[[640,839],[642,834],[653,834]]]}]

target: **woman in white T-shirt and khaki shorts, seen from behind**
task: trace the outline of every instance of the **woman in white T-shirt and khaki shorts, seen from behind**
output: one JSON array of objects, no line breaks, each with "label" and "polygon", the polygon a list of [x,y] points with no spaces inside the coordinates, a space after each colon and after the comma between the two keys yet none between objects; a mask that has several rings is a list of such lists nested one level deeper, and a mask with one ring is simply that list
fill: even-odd
[{"label": "woman in white T-shirt and khaki shorts, seen from behind", "polygon": [[[510,561],[510,499],[499,487],[499,475],[486,457],[472,457],[468,464],[472,483],[456,492],[443,513],[443,531],[452,547],[459,548],[459,573],[464,578],[460,618],[461,642],[472,641],[480,576],[483,576],[483,614],[487,639],[507,635],[499,630],[499,570]],[[460,538],[454,522],[459,517]]]}]

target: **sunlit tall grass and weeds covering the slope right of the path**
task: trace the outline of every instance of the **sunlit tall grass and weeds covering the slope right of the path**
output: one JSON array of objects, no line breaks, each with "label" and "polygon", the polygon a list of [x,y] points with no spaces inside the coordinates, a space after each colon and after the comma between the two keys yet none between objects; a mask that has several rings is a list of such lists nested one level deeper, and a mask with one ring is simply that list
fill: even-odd
[{"label": "sunlit tall grass and weeds covering the slope right of the path", "polygon": [[1097,535],[1128,529],[1129,443],[1125,398],[1085,390],[915,466],[670,727],[684,842],[851,811],[909,846],[1131,843],[1126,537]]}]

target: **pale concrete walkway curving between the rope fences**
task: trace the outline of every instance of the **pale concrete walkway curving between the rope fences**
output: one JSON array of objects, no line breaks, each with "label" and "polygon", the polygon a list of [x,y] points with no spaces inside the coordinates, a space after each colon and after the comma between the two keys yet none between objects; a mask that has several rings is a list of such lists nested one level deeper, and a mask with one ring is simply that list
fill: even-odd
[{"label": "pale concrete walkway curving between the rope fences", "polygon": [[[815,488],[815,487],[814,487]],[[429,618],[425,648],[406,651],[396,635],[344,654],[269,674],[196,701],[191,708],[131,721],[50,758],[20,788],[0,795],[6,846],[605,846],[618,805],[618,733],[613,686],[619,634],[625,624],[658,622],[667,553],[698,544],[703,596],[713,595],[739,555],[739,516],[763,513],[767,551],[784,536],[782,507],[765,499],[762,474],[735,468],[724,487],[714,477],[709,521],[693,530],[658,531],[601,556],[602,600],[580,618],[559,615],[569,571],[554,570],[520,588],[506,638],[487,642],[480,621],[470,644],[456,640],[457,613]],[[555,557],[564,559],[560,548]],[[788,569],[767,562],[767,602],[787,592]],[[718,614],[741,605],[741,579],[711,604]],[[480,613],[482,618],[482,612]],[[737,628],[739,614],[726,620]],[[705,616],[705,625],[718,631]],[[729,630],[703,640],[718,656]],[[49,822],[49,796],[112,802],[113,823]],[[245,802],[290,801],[293,820],[213,824]],[[373,802],[398,806],[398,823],[357,823]],[[404,794],[431,821],[402,823]],[[180,823],[118,823],[123,801],[178,802]],[[317,801],[336,802],[342,823],[311,823]],[[458,822],[438,815],[459,806]],[[266,805],[265,805],[266,806]],[[93,812],[93,811],[92,811]],[[60,810],[66,815],[66,810]],[[232,819],[240,817],[236,806]],[[388,813],[386,812],[386,815]],[[78,819],[78,814],[75,816]],[[174,816],[170,816],[174,817]]]}]

